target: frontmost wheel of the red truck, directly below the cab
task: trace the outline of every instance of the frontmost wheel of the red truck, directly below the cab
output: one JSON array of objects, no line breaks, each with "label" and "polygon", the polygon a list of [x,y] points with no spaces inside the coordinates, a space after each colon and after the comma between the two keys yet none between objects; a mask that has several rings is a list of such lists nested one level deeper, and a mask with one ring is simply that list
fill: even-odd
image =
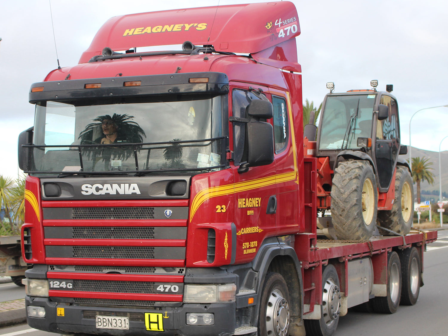
[{"label": "frontmost wheel of the red truck, directly below the cab", "polygon": [[258,335],[287,336],[289,330],[289,292],[283,276],[267,273],[258,316]]}]

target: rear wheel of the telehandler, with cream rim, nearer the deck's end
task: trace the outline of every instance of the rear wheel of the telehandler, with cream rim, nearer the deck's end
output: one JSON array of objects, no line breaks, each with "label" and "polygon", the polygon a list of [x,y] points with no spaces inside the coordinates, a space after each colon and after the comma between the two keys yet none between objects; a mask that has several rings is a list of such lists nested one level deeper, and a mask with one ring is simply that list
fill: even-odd
[{"label": "rear wheel of the telehandler, with cream rim, nearer the deck's end", "polygon": [[[414,220],[414,188],[409,170],[397,167],[395,173],[395,199],[392,210],[378,211],[378,222],[383,228],[406,235],[411,230]],[[379,228],[383,236],[393,235]]]}]

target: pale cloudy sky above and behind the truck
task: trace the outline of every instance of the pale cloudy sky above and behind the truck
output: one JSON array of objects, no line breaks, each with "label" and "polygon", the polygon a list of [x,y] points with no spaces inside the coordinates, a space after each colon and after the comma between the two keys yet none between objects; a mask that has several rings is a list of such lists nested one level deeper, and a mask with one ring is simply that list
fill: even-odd
[{"label": "pale cloudy sky above and behind the truck", "polygon": [[[0,175],[16,178],[17,137],[33,125],[28,92],[51,70],[78,63],[100,26],[123,14],[263,2],[195,1],[6,1],[0,7]],[[301,34],[303,99],[319,105],[328,93],[393,84],[401,143],[448,150],[448,3],[442,0],[293,1]],[[54,23],[54,39],[52,29]],[[244,31],[244,23],[241,25]],[[424,108],[431,108],[419,111]],[[419,112],[417,112],[419,111]],[[416,113],[417,112],[417,113]],[[415,113],[415,115],[414,115]],[[409,125],[411,117],[412,122]],[[444,155],[448,155],[446,152]]]}]

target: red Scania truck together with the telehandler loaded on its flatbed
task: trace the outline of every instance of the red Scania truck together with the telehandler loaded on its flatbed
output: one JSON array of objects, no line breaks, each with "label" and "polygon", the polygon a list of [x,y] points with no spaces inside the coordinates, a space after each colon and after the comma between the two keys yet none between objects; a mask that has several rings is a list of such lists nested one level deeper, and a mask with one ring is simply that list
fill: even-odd
[{"label": "red Scania truck together with the telehandler loaded on its flatbed", "polygon": [[[417,301],[437,234],[409,231],[396,101],[329,94],[322,119],[340,139],[321,140],[326,123],[304,139],[299,34],[286,1],[113,17],[78,65],[31,86],[35,123],[19,137],[31,327],[332,335],[350,307]],[[352,196],[335,185],[353,189],[362,236],[344,235]]]}]

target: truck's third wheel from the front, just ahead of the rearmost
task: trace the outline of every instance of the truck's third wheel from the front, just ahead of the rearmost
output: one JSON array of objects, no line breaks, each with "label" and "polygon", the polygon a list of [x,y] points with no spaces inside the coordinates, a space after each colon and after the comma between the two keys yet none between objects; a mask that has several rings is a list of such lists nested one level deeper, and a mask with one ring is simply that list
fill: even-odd
[{"label": "truck's third wheel from the front, just ahead of the rearmost", "polygon": [[401,297],[401,264],[396,252],[388,253],[387,296],[374,297],[373,309],[377,313],[393,314],[398,309]]}]

